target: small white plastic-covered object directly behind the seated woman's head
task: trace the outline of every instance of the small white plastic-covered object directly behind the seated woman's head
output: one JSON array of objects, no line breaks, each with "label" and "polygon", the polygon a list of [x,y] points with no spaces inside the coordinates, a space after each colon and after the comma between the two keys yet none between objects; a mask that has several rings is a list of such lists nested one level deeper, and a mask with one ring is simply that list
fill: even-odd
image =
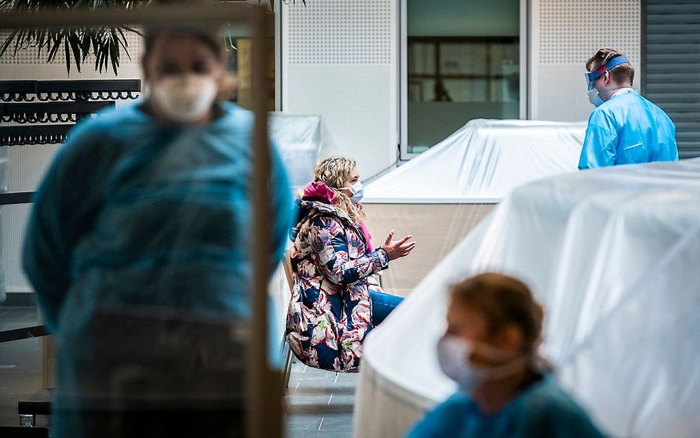
[{"label": "small white plastic-covered object directly behind the seated woman's head", "polygon": [[338,152],[321,116],[272,113],[269,134],[277,144],[294,192],[314,179],[314,165]]}]

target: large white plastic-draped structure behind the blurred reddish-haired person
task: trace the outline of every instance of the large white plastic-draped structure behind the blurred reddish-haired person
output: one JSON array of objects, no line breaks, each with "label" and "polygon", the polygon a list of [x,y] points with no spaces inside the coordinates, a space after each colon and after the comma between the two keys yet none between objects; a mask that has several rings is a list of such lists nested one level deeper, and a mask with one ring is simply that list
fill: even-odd
[{"label": "large white plastic-draped structure behind the blurred reddish-haired person", "polygon": [[398,437],[455,385],[439,371],[447,287],[522,278],[544,353],[614,436],[700,436],[700,158],[588,170],[515,189],[365,343],[359,437]]}]

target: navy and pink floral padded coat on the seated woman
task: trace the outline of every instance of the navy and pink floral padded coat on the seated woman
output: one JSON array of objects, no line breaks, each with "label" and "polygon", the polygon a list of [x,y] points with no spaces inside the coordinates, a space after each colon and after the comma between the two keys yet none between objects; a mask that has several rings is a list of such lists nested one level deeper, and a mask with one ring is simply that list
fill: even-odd
[{"label": "navy and pink floral padded coat on the seated woman", "polygon": [[367,277],[388,267],[384,249],[367,254],[367,242],[351,219],[318,200],[297,200],[300,221],[292,229],[294,278],[287,338],[309,367],[356,372],[372,329]]}]

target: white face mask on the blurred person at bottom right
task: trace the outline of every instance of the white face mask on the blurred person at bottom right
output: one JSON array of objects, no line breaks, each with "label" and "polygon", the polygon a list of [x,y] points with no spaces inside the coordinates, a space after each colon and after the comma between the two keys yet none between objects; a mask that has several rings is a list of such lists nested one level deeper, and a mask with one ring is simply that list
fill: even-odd
[{"label": "white face mask on the blurred person at bottom right", "polygon": [[[479,389],[486,381],[498,380],[517,372],[525,362],[525,357],[511,357],[507,362],[496,367],[479,367],[469,360],[475,344],[454,336],[443,336],[437,342],[437,360],[445,376],[457,383],[464,392]],[[493,359],[503,359],[508,353],[496,348],[479,348],[480,353]]]}]

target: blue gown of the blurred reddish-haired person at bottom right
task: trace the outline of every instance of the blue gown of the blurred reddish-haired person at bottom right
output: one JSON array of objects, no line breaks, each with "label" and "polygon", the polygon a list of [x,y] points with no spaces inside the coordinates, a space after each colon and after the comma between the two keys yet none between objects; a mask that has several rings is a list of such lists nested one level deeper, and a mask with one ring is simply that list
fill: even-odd
[{"label": "blue gown of the blurred reddish-haired person at bottom right", "polygon": [[465,392],[430,411],[409,438],[597,438],[603,434],[550,374],[528,386],[500,412],[485,415]]}]

